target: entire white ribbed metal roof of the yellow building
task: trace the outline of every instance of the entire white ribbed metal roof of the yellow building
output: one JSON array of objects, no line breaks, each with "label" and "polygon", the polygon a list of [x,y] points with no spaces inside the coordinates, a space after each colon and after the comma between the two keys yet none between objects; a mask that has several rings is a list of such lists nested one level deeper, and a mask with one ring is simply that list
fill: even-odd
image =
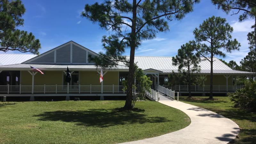
[{"label": "entire white ribbed metal roof of the yellow building", "polygon": [[[91,50],[73,42],[69,41],[65,44],[74,44],[76,46],[82,47],[83,50],[89,51],[95,55],[97,55],[95,52],[92,52]],[[97,69],[96,66],[89,64],[86,62],[86,64],[72,64],[70,60],[70,64],[55,64],[55,63],[47,63],[45,60],[42,60],[42,63],[30,63],[27,64],[27,62],[38,59],[49,52],[53,52],[54,50],[57,50],[61,46],[65,45],[62,44],[48,52],[45,52],[39,56],[36,57],[34,54],[0,54],[0,70],[29,70],[30,65],[39,68],[41,70],[65,70],[67,68],[70,68],[71,70],[95,70]],[[71,45],[70,50],[68,52],[71,52]],[[72,49],[73,51],[73,49]],[[56,53],[56,52],[54,52]],[[54,54],[55,55],[55,54]],[[34,58],[35,57],[35,58]],[[55,56],[54,56],[55,57]],[[81,57],[80,55],[76,55],[76,57]],[[87,56],[86,56],[87,57]],[[55,58],[54,58],[55,59]],[[70,59],[70,58],[69,58]],[[129,57],[127,57],[129,59]],[[201,67],[201,71],[199,73],[201,74],[210,74],[211,71],[211,64],[208,60],[204,60],[204,58],[201,58],[202,61],[199,63]],[[220,61],[218,58],[213,58],[213,73],[214,74],[239,74],[239,75],[254,75],[256,73],[252,72],[245,72],[245,71],[238,71],[238,70],[232,70],[227,65],[225,65],[222,61]],[[148,57],[148,56],[135,56],[134,61],[137,62],[137,65],[139,68],[143,70],[150,70],[153,69],[156,72],[169,74],[174,72],[178,72],[178,66],[172,65],[172,57]],[[45,63],[44,63],[45,62]],[[117,65],[116,68],[109,68],[109,70],[116,70],[119,71],[128,71],[128,67],[124,66],[123,64]]]}]

